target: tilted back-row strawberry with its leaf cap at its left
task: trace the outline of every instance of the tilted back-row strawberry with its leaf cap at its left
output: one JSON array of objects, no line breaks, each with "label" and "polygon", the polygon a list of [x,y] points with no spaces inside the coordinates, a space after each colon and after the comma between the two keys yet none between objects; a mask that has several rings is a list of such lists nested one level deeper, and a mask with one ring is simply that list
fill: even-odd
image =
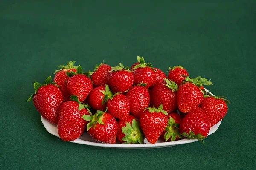
[{"label": "tilted back-row strawberry with its leaf cap at its left", "polygon": [[91,75],[91,80],[94,86],[105,86],[108,84],[108,75],[111,70],[111,66],[108,64],[99,64],[95,66],[93,72],[89,72]]}]

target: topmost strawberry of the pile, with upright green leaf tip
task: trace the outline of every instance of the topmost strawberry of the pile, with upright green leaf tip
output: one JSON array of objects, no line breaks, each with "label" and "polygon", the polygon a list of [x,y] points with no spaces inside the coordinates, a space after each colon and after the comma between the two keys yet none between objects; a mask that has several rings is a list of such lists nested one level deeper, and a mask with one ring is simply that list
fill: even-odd
[{"label": "topmost strawberry of the pile, with upright green leaf tip", "polygon": [[[146,64],[143,57],[137,56],[140,64],[133,67],[134,85],[145,83],[145,87],[150,88],[156,81],[156,73],[151,64]],[[136,63],[135,63],[136,64]]]}]

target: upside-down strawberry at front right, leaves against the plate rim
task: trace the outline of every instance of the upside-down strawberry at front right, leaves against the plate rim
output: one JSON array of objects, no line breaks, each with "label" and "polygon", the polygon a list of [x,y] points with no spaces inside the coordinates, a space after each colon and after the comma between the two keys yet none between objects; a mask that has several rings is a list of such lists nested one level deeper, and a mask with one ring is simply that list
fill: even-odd
[{"label": "upside-down strawberry at front right, leaves against the plate rim", "polygon": [[188,112],[180,122],[180,133],[189,139],[202,141],[208,136],[209,131],[209,119],[200,107]]}]

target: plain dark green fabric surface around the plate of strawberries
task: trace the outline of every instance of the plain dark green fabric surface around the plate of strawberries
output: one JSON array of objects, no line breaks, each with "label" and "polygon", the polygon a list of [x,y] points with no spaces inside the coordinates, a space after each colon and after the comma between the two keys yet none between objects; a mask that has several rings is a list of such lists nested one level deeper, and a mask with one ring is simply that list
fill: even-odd
[{"label": "plain dark green fabric surface around the plate of strawberries", "polygon": [[[255,0],[2,0],[0,169],[255,169],[255,38]],[[127,150],[64,142],[26,101],[33,83],[60,64],[131,66],[137,55],[164,71],[181,65],[192,77],[212,79],[207,89],[230,100],[205,146]]]}]

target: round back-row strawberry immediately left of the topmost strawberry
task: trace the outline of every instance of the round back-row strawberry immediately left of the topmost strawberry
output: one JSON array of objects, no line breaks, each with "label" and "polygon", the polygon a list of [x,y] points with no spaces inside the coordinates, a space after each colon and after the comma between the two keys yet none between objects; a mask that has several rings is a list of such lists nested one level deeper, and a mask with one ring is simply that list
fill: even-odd
[{"label": "round back-row strawberry immediately left of the topmost strawberry", "polygon": [[134,75],[129,69],[124,68],[124,66],[119,63],[120,66],[111,67],[109,73],[108,84],[113,93],[121,92],[124,93],[134,83]]}]

